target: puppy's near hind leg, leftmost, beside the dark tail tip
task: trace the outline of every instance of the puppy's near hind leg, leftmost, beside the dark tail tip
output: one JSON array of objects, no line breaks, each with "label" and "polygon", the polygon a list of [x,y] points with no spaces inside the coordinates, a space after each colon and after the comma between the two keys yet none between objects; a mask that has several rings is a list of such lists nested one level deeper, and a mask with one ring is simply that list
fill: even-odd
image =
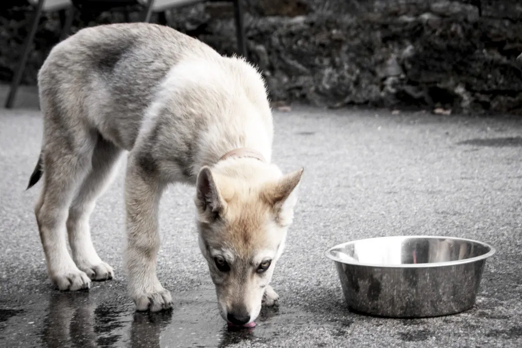
[{"label": "puppy's near hind leg, leftmost, beside the dark tail tip", "polygon": [[48,274],[60,290],[88,289],[89,277],[67,250],[66,220],[75,191],[90,169],[96,134],[68,117],[70,110],[43,101],[43,185],[34,213]]}]

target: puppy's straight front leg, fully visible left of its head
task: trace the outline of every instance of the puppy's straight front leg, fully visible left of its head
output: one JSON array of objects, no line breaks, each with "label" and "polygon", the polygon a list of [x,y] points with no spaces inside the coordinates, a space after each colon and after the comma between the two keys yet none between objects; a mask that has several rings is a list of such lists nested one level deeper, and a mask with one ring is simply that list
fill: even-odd
[{"label": "puppy's straight front leg, fully visible left of its head", "polygon": [[172,297],[156,274],[160,247],[158,210],[164,184],[151,163],[129,157],[125,178],[129,291],[137,310],[159,311],[172,306]]}]

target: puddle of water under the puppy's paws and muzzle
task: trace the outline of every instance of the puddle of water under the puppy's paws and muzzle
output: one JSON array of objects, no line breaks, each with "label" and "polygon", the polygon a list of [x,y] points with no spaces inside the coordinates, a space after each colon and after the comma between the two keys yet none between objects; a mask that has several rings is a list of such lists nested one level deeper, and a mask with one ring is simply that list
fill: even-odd
[{"label": "puddle of water under the puppy's paws and muzzle", "polygon": [[310,313],[263,308],[255,328],[230,331],[213,289],[172,295],[173,310],[161,313],[135,312],[125,294],[107,292],[51,292],[11,308],[3,304],[0,341],[10,347],[227,347],[242,341],[269,343],[281,327],[313,322]]}]

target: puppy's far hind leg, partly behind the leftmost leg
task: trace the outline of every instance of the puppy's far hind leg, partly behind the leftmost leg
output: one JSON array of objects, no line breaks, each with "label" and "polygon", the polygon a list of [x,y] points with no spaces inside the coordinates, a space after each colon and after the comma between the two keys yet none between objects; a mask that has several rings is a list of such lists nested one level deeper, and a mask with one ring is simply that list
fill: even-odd
[{"label": "puppy's far hind leg, partly behind the leftmost leg", "polygon": [[73,259],[76,266],[95,281],[112,279],[114,271],[100,259],[92,245],[89,218],[96,205],[96,199],[115,176],[115,163],[121,153],[122,150],[112,142],[98,136],[92,154],[91,171],[82,182],[69,208],[67,233]]}]

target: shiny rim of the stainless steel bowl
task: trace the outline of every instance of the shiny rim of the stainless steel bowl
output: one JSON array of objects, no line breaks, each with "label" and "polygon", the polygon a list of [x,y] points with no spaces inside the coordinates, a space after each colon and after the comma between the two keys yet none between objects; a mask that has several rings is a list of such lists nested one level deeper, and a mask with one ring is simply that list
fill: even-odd
[{"label": "shiny rim of the stainless steel bowl", "polygon": [[[454,261],[444,261],[444,262],[431,262],[431,263],[403,263],[401,265],[387,265],[385,263],[361,263],[361,262],[346,262],[344,260],[340,260],[339,258],[336,258],[331,255],[331,251],[334,249],[337,249],[339,247],[346,246],[348,244],[353,244],[355,242],[361,242],[361,241],[368,241],[371,239],[404,239],[404,238],[422,238],[422,239],[453,239],[456,241],[465,241],[465,242],[471,242],[475,244],[482,245],[484,247],[489,248],[489,251],[483,255],[470,257],[468,259],[462,259],[462,260],[454,260]],[[362,267],[380,267],[380,268],[426,268],[426,267],[445,267],[445,266],[455,266],[455,265],[462,265],[464,263],[471,263],[476,262],[479,260],[487,259],[491,256],[493,256],[496,253],[496,249],[491,246],[488,243],[477,241],[476,239],[470,239],[470,238],[461,238],[461,237],[449,237],[449,236],[436,236],[436,235],[400,235],[400,236],[382,236],[382,237],[369,237],[369,238],[362,238],[362,239],[354,239],[353,241],[340,243],[337,245],[334,245],[333,247],[328,248],[324,251],[324,255],[329,258],[330,260],[338,263],[342,263],[343,265],[353,265],[353,266],[362,266]]]}]

